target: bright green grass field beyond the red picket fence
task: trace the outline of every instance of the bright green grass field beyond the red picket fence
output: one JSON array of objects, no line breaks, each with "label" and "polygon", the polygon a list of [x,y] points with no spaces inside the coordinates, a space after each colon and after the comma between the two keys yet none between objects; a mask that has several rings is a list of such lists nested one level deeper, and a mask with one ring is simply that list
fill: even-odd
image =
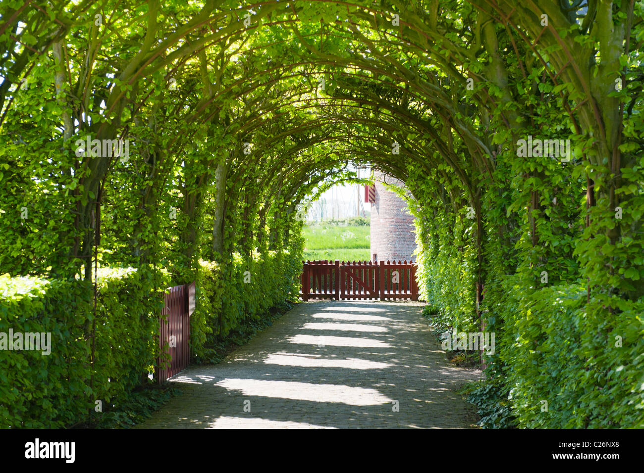
[{"label": "bright green grass field beyond the red picket fence", "polygon": [[312,225],[304,228],[304,259],[369,261],[370,228]]}]

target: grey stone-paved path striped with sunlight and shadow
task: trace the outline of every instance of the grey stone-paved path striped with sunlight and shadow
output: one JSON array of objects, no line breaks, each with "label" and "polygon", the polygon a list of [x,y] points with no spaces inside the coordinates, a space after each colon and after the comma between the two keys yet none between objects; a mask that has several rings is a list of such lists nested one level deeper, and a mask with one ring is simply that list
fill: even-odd
[{"label": "grey stone-paved path striped with sunlight and shadow", "polygon": [[471,428],[417,302],[303,302],[218,365],[171,378],[183,394],[139,429]]}]

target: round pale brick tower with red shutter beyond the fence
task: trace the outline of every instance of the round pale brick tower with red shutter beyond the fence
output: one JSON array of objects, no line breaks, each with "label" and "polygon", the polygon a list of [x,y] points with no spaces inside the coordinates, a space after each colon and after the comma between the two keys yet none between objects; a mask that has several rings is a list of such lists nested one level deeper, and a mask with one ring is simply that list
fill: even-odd
[{"label": "round pale brick tower with red shutter beyond the fence", "polygon": [[365,189],[365,201],[371,202],[371,260],[415,261],[413,216],[406,201],[385,189],[383,181],[405,189],[403,181],[379,173],[375,174],[375,186]]}]

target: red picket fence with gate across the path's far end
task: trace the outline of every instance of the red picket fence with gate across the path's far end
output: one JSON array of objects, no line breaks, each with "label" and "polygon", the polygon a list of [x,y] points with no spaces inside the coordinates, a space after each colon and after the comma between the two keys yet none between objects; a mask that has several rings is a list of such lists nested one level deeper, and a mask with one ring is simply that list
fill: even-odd
[{"label": "red picket fence with gate across the path's far end", "polygon": [[411,299],[418,300],[416,264],[339,259],[303,262],[300,296],[308,299]]}]

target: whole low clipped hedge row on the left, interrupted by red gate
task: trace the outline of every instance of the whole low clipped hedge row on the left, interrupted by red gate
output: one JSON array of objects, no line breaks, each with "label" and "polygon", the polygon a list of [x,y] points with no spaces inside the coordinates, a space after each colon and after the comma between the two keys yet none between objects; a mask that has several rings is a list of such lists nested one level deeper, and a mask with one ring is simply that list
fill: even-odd
[{"label": "whole low clipped hedge row on the left, interrupted by red gate", "polygon": [[[195,360],[208,358],[215,337],[295,300],[300,272],[297,252],[234,254],[224,264],[200,261],[191,316]],[[0,332],[51,333],[50,355],[0,350],[0,427],[70,427],[96,416],[97,400],[106,411],[147,382],[158,357],[158,314],[169,275],[101,268],[97,283],[94,319],[93,288],[85,281],[0,276]]]}]

